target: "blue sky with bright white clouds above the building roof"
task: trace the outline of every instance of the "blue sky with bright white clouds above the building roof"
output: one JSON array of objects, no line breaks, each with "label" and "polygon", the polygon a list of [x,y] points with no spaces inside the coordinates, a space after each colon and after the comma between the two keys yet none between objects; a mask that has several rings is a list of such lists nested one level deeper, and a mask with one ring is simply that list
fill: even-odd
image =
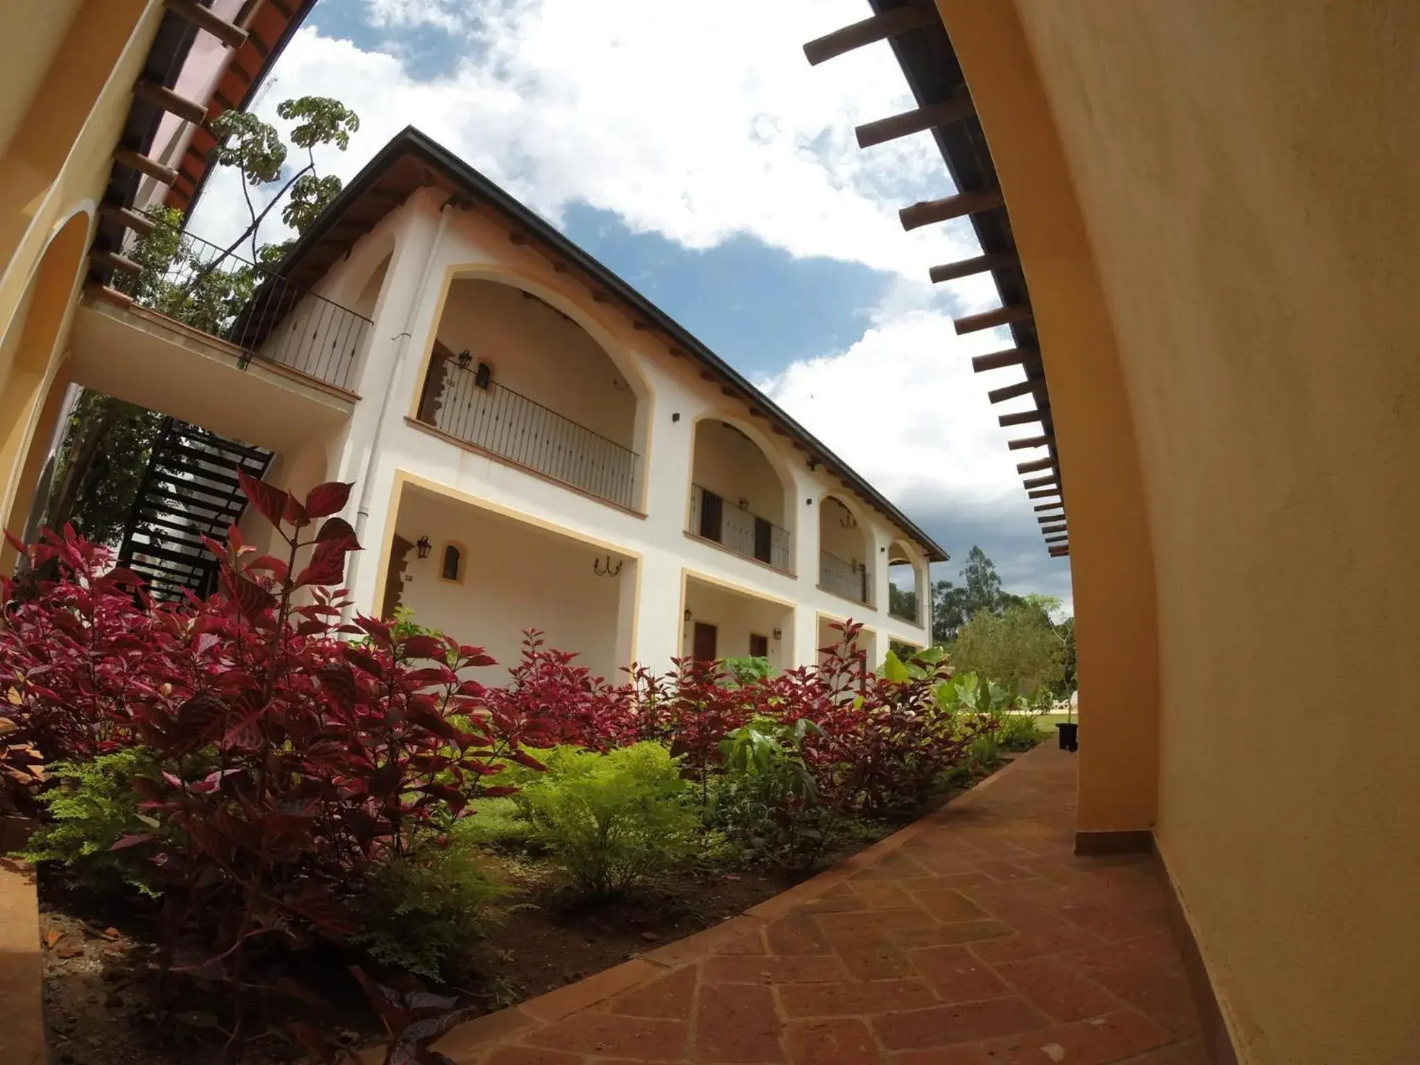
[{"label": "blue sky with bright white clouds above the building roof", "polygon": [[[964,220],[905,233],[897,209],[953,192],[930,133],[862,151],[853,128],[913,106],[886,45],[809,67],[802,44],[863,0],[320,0],[256,101],[335,97],[361,118],[321,173],[354,176],[415,125],[621,274],[866,477],[951,555],[973,544],[1007,591],[1071,608],[971,355],[1005,329],[990,275],[932,285],[978,251]],[[747,31],[753,27],[753,31]],[[263,241],[284,239],[273,212]],[[192,230],[240,233],[234,175]],[[226,243],[226,240],[223,240]]]}]

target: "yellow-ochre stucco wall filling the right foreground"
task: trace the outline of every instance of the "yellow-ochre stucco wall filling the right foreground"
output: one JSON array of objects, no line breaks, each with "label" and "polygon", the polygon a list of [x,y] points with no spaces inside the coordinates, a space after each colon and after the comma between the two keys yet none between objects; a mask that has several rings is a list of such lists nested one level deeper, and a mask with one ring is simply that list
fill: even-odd
[{"label": "yellow-ochre stucco wall filling the right foreground", "polygon": [[[939,9],[1039,312],[1081,626],[1082,828],[1095,799],[1132,801],[1096,780],[1123,768],[1096,744],[1130,730],[1123,711],[1095,717],[1089,686],[1150,653],[1145,633],[1086,635],[1100,581],[1132,594],[1145,577],[1096,548],[1146,530],[1156,834],[1238,1056],[1411,1061],[1420,7]],[[1076,305],[1056,314],[1066,266]],[[1093,393],[1074,365],[1089,320],[1118,351],[1089,356]],[[1091,419],[1126,413],[1145,513],[1122,486],[1112,531],[1096,518],[1120,486],[1083,459]]]}]

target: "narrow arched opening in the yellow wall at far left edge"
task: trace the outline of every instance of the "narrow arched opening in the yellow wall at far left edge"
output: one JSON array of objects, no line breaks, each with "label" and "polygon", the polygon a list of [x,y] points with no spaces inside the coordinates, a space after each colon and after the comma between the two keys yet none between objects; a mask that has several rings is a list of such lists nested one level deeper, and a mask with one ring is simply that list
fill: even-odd
[{"label": "narrow arched opening in the yellow wall at far left edge", "polygon": [[[24,532],[58,403],[47,395],[67,381],[54,371],[55,351],[68,322],[74,290],[88,243],[89,216],[74,214],[54,236],[40,260],[4,337],[0,338],[0,514],[4,528]],[[47,416],[51,422],[44,426]],[[0,548],[0,568],[9,569],[14,551]]]}]

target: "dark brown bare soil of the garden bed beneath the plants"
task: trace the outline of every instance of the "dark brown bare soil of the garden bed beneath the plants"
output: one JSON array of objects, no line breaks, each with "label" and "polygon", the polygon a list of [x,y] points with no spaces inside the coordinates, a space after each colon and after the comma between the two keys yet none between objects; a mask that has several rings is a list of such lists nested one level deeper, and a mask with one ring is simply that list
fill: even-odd
[{"label": "dark brown bare soil of the garden bed beneath the plants", "polygon": [[[1008,755],[1010,757],[1010,755]],[[939,795],[920,816],[960,791]],[[900,824],[865,828],[852,843],[824,855],[831,866]],[[517,888],[501,920],[474,951],[480,980],[456,988],[491,1012],[575,983],[663,943],[719,924],[795,882],[811,876],[763,868],[697,869],[666,878],[653,889],[598,905],[574,905],[550,865],[524,856],[490,853]],[[189,981],[178,993],[163,985],[153,927],[145,914],[95,903],[71,890],[50,868],[40,875],[40,930],[44,940],[44,1010],[51,1065],[206,1065],[223,1061],[226,1035],[217,1027],[230,994],[216,984]],[[325,1000],[312,1007],[281,995],[260,998],[248,1021],[244,1065],[288,1065],[304,1049],[287,1032],[290,1020],[315,1025],[328,1041],[366,1047],[382,1028],[348,966],[368,960],[334,947],[293,956],[277,971],[297,978]],[[253,1038],[254,1037],[254,1038]]]}]

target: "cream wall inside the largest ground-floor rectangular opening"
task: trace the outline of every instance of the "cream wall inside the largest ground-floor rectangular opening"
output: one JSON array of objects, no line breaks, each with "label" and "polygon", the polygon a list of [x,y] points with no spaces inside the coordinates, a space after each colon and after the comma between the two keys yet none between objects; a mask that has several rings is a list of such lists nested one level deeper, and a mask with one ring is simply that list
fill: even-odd
[{"label": "cream wall inside the largest ground-floor rectangular opening", "polygon": [[[577,663],[621,683],[618,606],[623,588],[635,582],[635,559],[616,577],[598,577],[596,558],[608,552],[508,517],[481,511],[417,488],[402,494],[395,524],[409,542],[429,537],[433,550],[420,559],[410,551],[402,605],[423,625],[443,629],[463,643],[484,648],[498,667],[477,680],[501,683],[517,665],[524,629],[541,629],[545,645],[577,652]],[[440,579],[442,547],[467,548],[463,584]]]}]

